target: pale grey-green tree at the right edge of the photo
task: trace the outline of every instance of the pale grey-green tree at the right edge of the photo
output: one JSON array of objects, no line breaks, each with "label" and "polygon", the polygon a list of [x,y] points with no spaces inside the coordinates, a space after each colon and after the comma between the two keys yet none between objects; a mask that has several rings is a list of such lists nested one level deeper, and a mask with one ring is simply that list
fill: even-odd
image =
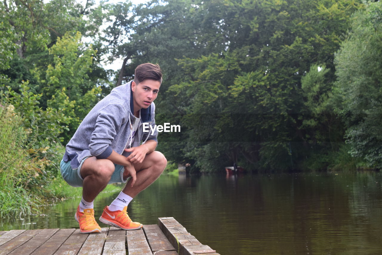
[{"label": "pale grey-green tree at the right edge of the photo", "polygon": [[368,3],[354,15],[352,29],[336,54],[334,94],[345,119],[350,154],[382,168],[382,4]]}]

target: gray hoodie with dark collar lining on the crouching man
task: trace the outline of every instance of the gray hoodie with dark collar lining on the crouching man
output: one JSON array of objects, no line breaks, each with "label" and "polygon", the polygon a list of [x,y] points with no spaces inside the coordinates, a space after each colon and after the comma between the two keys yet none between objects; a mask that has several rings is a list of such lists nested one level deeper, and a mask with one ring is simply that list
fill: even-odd
[{"label": "gray hoodie with dark collar lining on the crouching man", "polygon": [[[79,125],[74,136],[66,145],[63,160],[72,168],[77,168],[85,157],[94,156],[97,159],[106,159],[112,150],[127,157],[130,153],[124,149],[129,147],[131,136],[131,120],[134,120],[133,93],[131,82],[113,88],[109,95],[99,101],[86,115]],[[138,139],[134,139],[131,147],[139,146],[143,140],[154,140],[158,143],[158,131],[143,132],[143,123],[149,123],[154,129],[155,105],[141,109],[141,121],[138,127]]]}]

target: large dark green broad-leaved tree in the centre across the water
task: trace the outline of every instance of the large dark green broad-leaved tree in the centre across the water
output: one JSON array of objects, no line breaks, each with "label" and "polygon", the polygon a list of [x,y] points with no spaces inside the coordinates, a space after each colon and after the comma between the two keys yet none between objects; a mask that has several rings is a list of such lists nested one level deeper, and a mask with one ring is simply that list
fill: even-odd
[{"label": "large dark green broad-leaved tree in the centre across the water", "polygon": [[[178,60],[183,77],[180,82],[170,81],[177,83],[168,89],[171,96],[166,98],[167,102],[176,101],[186,113],[194,114],[192,119],[183,119],[185,126],[193,127],[188,141],[223,142],[232,138],[228,146],[223,146],[225,149],[219,149],[221,156],[216,159],[226,159],[216,160],[220,166],[238,157],[259,169],[288,169],[295,165],[291,156],[297,162],[305,158],[311,140],[310,131],[303,126],[303,113],[317,110],[314,105],[306,110],[304,100],[310,100],[308,104],[313,101],[309,93],[304,94],[308,90],[301,88],[301,78],[309,72],[312,62],[323,61],[329,66],[324,71],[325,90],[330,90],[334,51],[357,6],[353,1],[201,4],[199,8],[205,10],[206,20],[218,25],[209,26],[208,36],[195,41],[209,38],[205,47],[216,52]],[[332,23],[323,24],[321,21],[328,15],[335,18]],[[335,25],[338,20],[342,21],[340,26]],[[196,115],[208,113],[219,114],[208,118]],[[316,131],[324,125],[317,125]],[[325,136],[316,138],[324,142],[328,137],[325,129],[322,132]],[[187,155],[194,155],[200,166],[210,162],[210,157],[201,155],[215,155],[210,151],[215,147],[209,144],[190,144],[188,148],[195,148],[195,154],[191,149]]]}]

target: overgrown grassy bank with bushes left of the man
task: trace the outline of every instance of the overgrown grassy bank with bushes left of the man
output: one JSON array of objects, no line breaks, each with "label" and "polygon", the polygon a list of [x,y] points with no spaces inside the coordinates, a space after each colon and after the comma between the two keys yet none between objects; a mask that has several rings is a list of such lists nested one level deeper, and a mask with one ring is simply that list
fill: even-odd
[{"label": "overgrown grassy bank with bushes left of the man", "polygon": [[[71,187],[61,178],[65,148],[60,143],[31,139],[36,134],[24,126],[23,114],[16,113],[13,105],[0,105],[0,123],[1,218],[37,213],[48,199],[82,196],[81,188]],[[105,191],[118,189],[108,185]]]}]

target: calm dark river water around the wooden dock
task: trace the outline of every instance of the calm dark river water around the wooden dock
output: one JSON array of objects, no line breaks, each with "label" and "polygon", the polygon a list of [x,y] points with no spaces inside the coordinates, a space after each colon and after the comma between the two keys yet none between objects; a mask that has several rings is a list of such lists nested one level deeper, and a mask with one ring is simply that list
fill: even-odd
[{"label": "calm dark river water around the wooden dock", "polygon": [[[380,173],[163,175],[129,205],[143,224],[175,217],[202,244],[225,254],[382,254]],[[95,201],[99,217],[117,193]],[[79,199],[0,222],[0,230],[78,228]],[[100,224],[104,227],[105,225]]]}]

